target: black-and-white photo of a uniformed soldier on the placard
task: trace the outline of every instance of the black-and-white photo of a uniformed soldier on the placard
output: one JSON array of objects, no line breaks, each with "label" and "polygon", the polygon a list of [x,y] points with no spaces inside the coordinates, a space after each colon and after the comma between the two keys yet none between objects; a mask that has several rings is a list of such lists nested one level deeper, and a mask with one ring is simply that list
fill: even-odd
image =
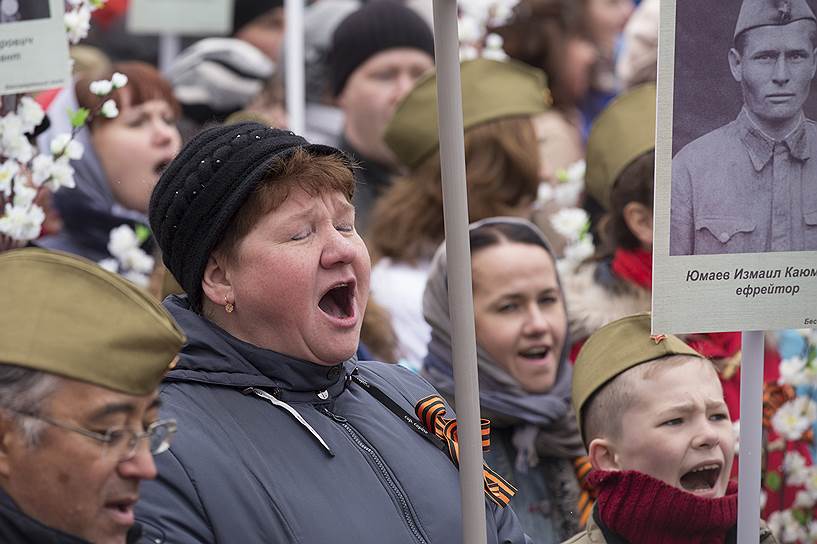
[{"label": "black-and-white photo of a uniformed soldier on the placard", "polygon": [[[678,2],[669,254],[817,250],[814,0],[695,3],[685,21]],[[680,60],[707,40],[720,51]]]}]

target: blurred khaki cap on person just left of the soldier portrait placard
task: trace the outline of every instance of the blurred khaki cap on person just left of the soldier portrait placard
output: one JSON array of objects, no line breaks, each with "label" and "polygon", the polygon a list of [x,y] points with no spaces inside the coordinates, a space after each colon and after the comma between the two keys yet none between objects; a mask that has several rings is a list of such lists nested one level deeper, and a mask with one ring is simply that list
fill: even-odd
[{"label": "blurred khaki cap on person just left of the soldier portrait placard", "polygon": [[593,122],[587,139],[587,192],[610,209],[616,180],[635,159],[655,149],[655,84],[619,95]]}]

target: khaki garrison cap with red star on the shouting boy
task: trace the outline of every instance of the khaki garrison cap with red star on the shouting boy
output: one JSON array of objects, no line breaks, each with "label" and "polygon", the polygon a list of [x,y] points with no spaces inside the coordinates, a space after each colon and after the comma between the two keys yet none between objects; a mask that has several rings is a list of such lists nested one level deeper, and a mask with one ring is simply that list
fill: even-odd
[{"label": "khaki garrison cap with red star on the shouting boy", "polygon": [[582,439],[582,411],[593,393],[625,370],[670,355],[704,358],[677,336],[651,336],[649,312],[623,317],[593,333],[573,366],[573,411]]}]

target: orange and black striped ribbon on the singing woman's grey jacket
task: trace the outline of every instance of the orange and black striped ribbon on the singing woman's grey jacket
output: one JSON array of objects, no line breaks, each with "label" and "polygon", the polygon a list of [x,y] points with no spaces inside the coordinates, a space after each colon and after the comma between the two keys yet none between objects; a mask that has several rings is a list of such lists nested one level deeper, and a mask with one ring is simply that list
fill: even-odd
[{"label": "orange and black striped ribbon on the singing woman's grey jacket", "polygon": [[[429,395],[420,399],[414,410],[425,428],[445,442],[448,446],[448,457],[459,468],[460,447],[457,443],[457,420],[443,417],[445,415],[443,399],[438,395]],[[480,427],[482,429],[482,451],[488,451],[491,445],[491,422],[483,419]],[[485,494],[500,508],[504,508],[511,501],[511,497],[516,494],[516,488],[494,472],[485,462],[482,463],[482,480],[485,484]]]}]

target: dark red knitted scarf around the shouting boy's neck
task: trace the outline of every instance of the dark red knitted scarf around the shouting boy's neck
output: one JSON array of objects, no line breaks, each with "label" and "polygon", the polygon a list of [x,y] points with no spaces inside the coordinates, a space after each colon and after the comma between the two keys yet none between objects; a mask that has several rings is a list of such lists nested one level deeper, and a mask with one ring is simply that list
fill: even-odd
[{"label": "dark red knitted scarf around the shouting boy's neck", "polygon": [[723,544],[738,522],[737,485],[719,499],[696,497],[641,472],[594,471],[597,515],[630,544]]}]

